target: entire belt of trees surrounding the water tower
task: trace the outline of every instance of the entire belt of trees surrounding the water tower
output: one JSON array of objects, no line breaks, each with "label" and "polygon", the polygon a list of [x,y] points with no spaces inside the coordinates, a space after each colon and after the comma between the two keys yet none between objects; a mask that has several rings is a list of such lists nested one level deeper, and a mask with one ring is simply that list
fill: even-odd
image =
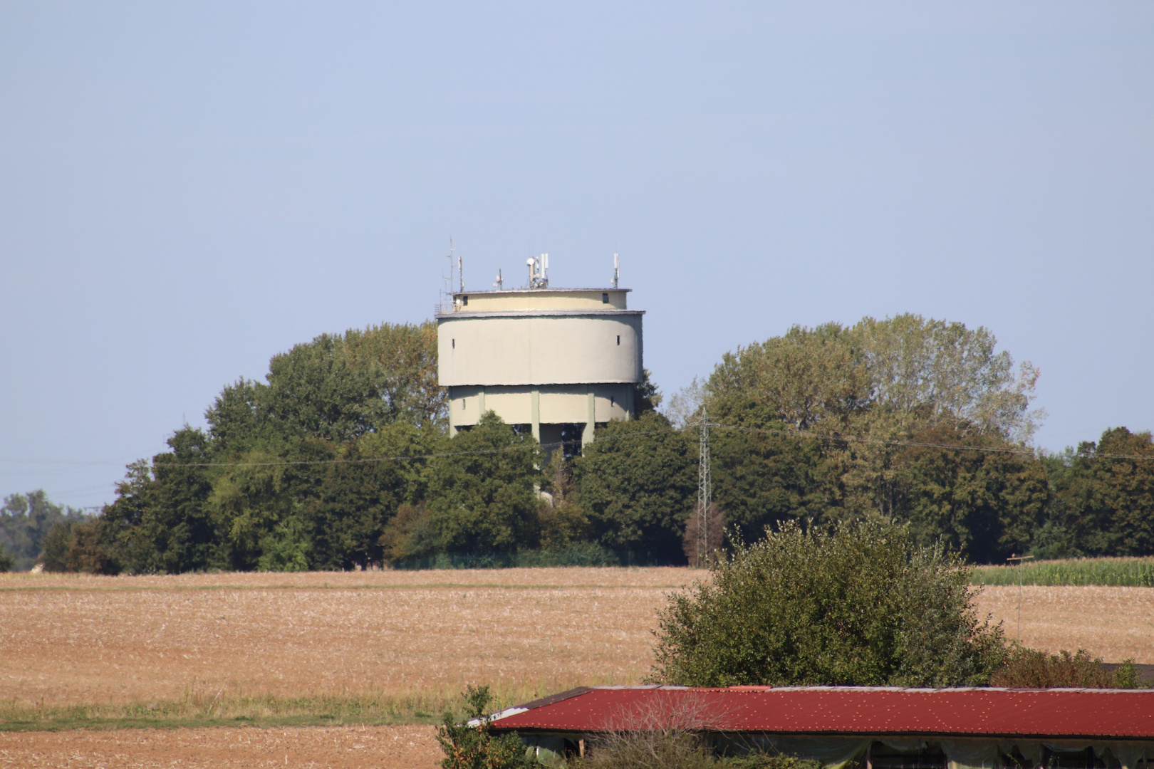
[{"label": "entire belt of trees surrounding the water tower", "polygon": [[115,502],[61,523],[44,563],[347,570],[575,549],[684,563],[702,422],[707,525],[747,542],[780,521],[896,520],[977,563],[1154,553],[1151,435],[1037,455],[1036,377],[958,323],[794,327],[727,353],[664,412],[646,378],[638,419],[599,429],[582,455],[548,447],[547,462],[493,414],[449,437],[433,324],[325,334],[275,356],[267,382],[226,386],[207,430],[129,466]]}]

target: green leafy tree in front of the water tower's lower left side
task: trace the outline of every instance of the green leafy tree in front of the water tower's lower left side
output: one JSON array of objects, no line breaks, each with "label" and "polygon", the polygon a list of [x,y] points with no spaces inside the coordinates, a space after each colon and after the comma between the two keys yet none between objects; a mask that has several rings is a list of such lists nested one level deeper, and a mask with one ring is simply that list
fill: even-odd
[{"label": "green leafy tree in front of the water tower's lower left side", "polygon": [[441,552],[515,552],[538,544],[541,451],[493,412],[441,444],[429,467],[425,530]]}]

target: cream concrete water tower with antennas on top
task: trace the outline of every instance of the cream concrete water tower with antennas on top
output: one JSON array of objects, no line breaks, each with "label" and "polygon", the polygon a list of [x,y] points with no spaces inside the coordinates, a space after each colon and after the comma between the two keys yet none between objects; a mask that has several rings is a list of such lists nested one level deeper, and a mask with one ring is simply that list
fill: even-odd
[{"label": "cream concrete water tower with antennas on top", "polygon": [[609,288],[550,288],[545,254],[527,266],[525,288],[505,289],[499,274],[495,291],[462,286],[437,308],[439,379],[449,389],[450,432],[495,412],[547,447],[574,429],[590,443],[595,425],[634,416],[644,310],[628,309],[616,256]]}]

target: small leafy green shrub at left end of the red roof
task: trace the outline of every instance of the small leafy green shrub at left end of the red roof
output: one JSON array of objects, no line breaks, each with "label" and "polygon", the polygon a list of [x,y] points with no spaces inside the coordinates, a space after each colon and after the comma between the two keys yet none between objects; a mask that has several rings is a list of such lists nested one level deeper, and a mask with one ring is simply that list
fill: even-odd
[{"label": "small leafy green shrub at left end of the red roof", "polygon": [[[516,732],[494,736],[489,731],[489,703],[493,700],[488,686],[470,686],[464,694],[466,723],[458,723],[451,713],[445,713],[436,730],[436,741],[444,751],[441,766],[444,769],[519,769],[529,767],[525,746]],[[472,721],[475,725],[470,725]]]}]

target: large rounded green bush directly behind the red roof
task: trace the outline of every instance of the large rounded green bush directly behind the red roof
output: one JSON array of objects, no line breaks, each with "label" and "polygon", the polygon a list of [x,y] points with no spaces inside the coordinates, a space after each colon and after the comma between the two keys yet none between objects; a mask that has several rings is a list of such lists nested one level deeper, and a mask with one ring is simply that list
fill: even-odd
[{"label": "large rounded green bush directly behind the red roof", "polygon": [[969,686],[1005,657],[964,563],[879,522],[787,521],[739,544],[672,596],[657,639],[654,679],[685,686]]}]

